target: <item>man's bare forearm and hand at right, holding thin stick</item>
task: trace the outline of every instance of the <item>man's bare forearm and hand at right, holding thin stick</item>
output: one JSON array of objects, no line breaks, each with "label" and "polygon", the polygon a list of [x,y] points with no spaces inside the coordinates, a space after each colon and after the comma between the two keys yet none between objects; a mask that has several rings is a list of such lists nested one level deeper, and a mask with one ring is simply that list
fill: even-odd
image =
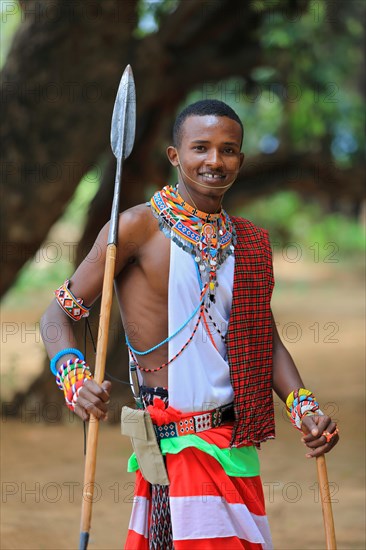
[{"label": "man's bare forearm and hand at right, holding thin stick", "polygon": [[[296,365],[283,345],[278,334],[276,323],[272,315],[273,331],[273,389],[286,402],[287,397],[294,390],[305,388]],[[307,458],[328,453],[339,440],[335,422],[327,415],[308,414],[302,417],[302,441],[309,448]],[[325,432],[325,434],[324,434]]]}]

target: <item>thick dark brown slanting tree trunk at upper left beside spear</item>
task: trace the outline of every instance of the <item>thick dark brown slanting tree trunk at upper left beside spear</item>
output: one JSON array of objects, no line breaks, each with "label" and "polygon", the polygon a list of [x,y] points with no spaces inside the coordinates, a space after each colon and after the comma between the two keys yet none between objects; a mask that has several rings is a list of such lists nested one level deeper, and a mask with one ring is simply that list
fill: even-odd
[{"label": "thick dark brown slanting tree trunk at upper left beside spear", "polygon": [[23,24],[1,75],[1,166],[7,203],[1,221],[2,292],[37,251],[81,176],[108,143],[136,4],[23,4]]}]

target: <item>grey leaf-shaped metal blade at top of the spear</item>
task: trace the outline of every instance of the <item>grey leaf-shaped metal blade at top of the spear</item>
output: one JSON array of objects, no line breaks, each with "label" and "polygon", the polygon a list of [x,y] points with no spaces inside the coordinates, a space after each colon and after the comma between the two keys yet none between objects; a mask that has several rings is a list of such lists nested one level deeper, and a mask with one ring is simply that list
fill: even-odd
[{"label": "grey leaf-shaped metal blade at top of the spear", "polygon": [[135,82],[131,66],[127,65],[119,83],[112,115],[111,147],[117,159],[122,161],[131,154],[135,141],[135,130]]}]

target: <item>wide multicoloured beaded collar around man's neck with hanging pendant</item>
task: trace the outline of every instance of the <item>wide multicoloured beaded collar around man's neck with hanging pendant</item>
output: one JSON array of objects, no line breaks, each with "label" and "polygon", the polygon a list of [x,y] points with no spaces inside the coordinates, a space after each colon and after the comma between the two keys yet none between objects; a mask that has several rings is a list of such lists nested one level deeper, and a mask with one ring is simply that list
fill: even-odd
[{"label": "wide multicoloured beaded collar around man's neck with hanging pendant", "polygon": [[221,209],[207,214],[193,208],[170,185],[153,195],[148,203],[163,233],[194,257],[202,282],[209,283],[209,297],[215,301],[216,271],[233,254],[235,229]]}]

